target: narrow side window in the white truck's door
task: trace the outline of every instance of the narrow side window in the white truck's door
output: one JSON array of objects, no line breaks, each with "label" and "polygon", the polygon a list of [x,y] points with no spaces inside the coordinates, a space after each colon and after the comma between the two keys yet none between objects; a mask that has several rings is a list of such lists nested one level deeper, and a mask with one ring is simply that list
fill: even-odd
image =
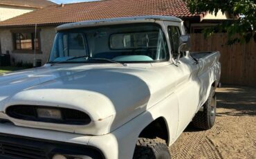
[{"label": "narrow side window in the white truck's door", "polygon": [[[179,37],[181,36],[181,31],[179,30],[178,26],[169,26],[168,33],[170,37],[170,44],[172,47],[172,55],[174,59],[178,57],[178,48],[179,48]],[[183,53],[181,53],[181,57],[183,57]]]}]

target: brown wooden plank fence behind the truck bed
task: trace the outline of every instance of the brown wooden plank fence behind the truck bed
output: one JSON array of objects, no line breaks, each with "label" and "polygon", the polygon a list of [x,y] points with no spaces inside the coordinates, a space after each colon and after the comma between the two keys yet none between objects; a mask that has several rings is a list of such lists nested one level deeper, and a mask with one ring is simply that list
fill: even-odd
[{"label": "brown wooden plank fence behind the truck bed", "polygon": [[221,83],[256,86],[256,44],[227,46],[227,34],[216,33],[204,39],[203,34],[191,34],[192,51],[214,51],[221,53]]}]

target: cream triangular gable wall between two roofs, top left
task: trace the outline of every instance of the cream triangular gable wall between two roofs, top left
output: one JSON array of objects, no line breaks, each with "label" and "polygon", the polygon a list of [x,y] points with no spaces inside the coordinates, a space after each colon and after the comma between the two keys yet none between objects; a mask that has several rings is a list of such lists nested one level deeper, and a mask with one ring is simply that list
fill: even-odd
[{"label": "cream triangular gable wall between two roofs, top left", "polygon": [[18,6],[3,6],[0,5],[0,21],[10,19],[12,17],[17,17],[23,15],[27,12],[32,12],[35,8],[25,8]]}]

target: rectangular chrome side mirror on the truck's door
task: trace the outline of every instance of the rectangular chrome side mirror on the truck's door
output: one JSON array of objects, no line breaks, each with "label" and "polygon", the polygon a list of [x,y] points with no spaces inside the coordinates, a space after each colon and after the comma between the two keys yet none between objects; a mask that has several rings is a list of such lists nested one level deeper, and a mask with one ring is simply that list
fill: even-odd
[{"label": "rectangular chrome side mirror on the truck's door", "polygon": [[178,48],[178,57],[176,59],[176,64],[179,62],[179,59],[181,57],[181,52],[185,52],[190,50],[191,44],[190,44],[190,35],[181,35],[179,37],[179,48]]}]

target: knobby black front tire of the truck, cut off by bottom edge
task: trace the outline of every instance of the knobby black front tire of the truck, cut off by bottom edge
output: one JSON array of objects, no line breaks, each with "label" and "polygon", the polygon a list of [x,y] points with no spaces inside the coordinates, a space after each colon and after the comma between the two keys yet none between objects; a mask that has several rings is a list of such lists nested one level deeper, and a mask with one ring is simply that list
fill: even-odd
[{"label": "knobby black front tire of the truck, cut off by bottom edge", "polygon": [[170,159],[170,151],[162,140],[138,138],[134,159]]}]

